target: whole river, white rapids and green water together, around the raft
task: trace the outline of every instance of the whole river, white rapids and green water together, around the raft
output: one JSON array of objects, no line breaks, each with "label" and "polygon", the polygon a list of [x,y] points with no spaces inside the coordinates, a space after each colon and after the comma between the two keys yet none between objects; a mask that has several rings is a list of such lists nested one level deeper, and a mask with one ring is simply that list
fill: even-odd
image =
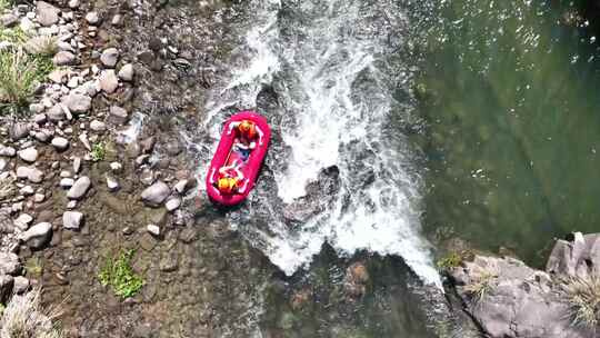
[{"label": "whole river, white rapids and green water together, around the raft", "polygon": [[[171,6],[193,22],[202,3]],[[281,274],[247,286],[252,320],[222,336],[476,337],[442,295],[440,248],[460,238],[540,267],[553,237],[594,230],[598,46],[574,4],[224,8],[206,113],[179,131],[203,179],[229,116],[268,118],[258,186],[219,217]],[[370,276],[358,300],[356,262]]]}]

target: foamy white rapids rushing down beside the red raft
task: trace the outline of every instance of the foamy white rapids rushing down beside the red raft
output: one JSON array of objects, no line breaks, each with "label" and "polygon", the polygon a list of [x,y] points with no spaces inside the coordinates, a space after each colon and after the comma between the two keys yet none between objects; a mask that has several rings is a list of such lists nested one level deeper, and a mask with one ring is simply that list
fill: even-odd
[{"label": "foamy white rapids rushing down beside the red raft", "polygon": [[[239,51],[247,59],[208,107],[206,126],[216,140],[229,108],[254,108],[263,86],[277,88],[282,107],[268,116],[283,143],[272,145],[268,161],[277,196],[252,192],[256,202],[232,212],[232,222],[287,275],[309,264],[327,241],[340,255],[366,249],[401,256],[424,282],[441,286],[430,245],[420,236],[420,178],[407,169],[412,155],[404,137],[389,128],[399,105],[388,69],[378,62],[387,52],[386,36],[366,19],[377,6],[360,0],[289,4],[286,10],[306,19],[301,24],[280,22],[281,6],[252,2],[256,26]],[[307,185],[331,166],[340,172],[338,193],[332,200],[320,197],[323,208],[291,227],[282,208],[303,197]]]}]

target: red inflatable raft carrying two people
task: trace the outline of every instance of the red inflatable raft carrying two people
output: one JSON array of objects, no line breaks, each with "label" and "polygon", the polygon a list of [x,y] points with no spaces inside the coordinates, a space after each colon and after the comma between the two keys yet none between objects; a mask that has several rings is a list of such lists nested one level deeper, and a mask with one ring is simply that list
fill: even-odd
[{"label": "red inflatable raft carrying two people", "polygon": [[[254,140],[256,147],[249,151],[246,159],[233,150],[234,143],[239,141],[234,126],[244,120],[253,122],[258,131],[258,137]],[[236,125],[232,126],[231,123]],[[254,187],[262,160],[267,155],[267,148],[269,148],[270,139],[271,129],[267,123],[267,119],[257,112],[242,111],[229,118],[223,127],[221,140],[210,162],[207,175],[207,191],[210,199],[223,206],[234,206],[243,201]],[[217,188],[217,181],[221,176],[219,169],[230,166],[232,162],[241,163],[237,167],[243,175],[241,187],[231,193],[222,193]]]}]

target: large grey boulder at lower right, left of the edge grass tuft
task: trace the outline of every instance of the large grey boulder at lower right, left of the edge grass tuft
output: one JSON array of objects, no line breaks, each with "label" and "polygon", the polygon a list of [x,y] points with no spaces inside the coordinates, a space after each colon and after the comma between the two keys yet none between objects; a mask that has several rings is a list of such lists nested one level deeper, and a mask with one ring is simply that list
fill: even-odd
[{"label": "large grey boulder at lower right, left of the edge grass tuft", "polygon": [[449,270],[464,309],[491,338],[593,338],[550,275],[513,258],[476,256]]}]

